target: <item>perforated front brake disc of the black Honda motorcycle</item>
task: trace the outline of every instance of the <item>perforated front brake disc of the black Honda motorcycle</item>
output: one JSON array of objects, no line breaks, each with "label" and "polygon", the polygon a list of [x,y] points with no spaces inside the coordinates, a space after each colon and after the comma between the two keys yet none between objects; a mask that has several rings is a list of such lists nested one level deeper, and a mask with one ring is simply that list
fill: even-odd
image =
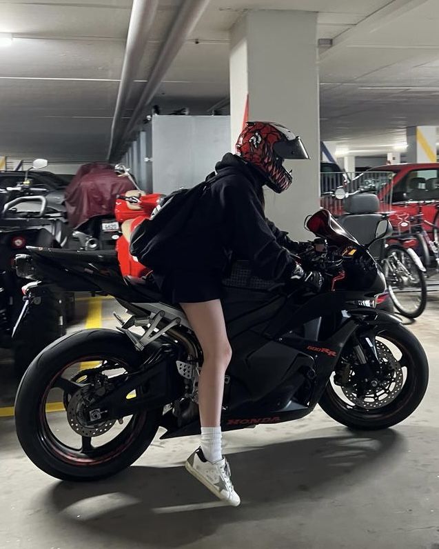
[{"label": "perforated front brake disc of the black Honda motorcycle", "polygon": [[347,385],[342,386],[345,397],[365,410],[376,410],[376,408],[382,408],[391,403],[398,397],[404,385],[401,365],[391,350],[382,341],[376,341],[375,344],[380,363],[385,371],[384,377],[376,380],[378,381],[377,386],[369,386],[367,392],[359,397],[357,391],[352,387],[354,383],[352,370],[349,373]]}]

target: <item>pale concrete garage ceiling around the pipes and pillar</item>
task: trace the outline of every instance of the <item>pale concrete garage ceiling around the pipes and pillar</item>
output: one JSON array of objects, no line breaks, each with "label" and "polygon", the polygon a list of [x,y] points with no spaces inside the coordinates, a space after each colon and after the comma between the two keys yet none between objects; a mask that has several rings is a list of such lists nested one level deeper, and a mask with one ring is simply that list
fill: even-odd
[{"label": "pale concrete garage ceiling around the pipes and pillar", "polygon": [[[0,0],[0,32],[14,37],[0,49],[0,156],[105,157],[131,4]],[[138,80],[147,79],[180,4],[160,1]],[[317,11],[318,38],[333,40],[320,51],[324,139],[385,152],[405,141],[407,125],[439,126],[438,0],[212,0],[156,102],[203,112],[227,97],[229,29],[245,10],[263,8]]]}]

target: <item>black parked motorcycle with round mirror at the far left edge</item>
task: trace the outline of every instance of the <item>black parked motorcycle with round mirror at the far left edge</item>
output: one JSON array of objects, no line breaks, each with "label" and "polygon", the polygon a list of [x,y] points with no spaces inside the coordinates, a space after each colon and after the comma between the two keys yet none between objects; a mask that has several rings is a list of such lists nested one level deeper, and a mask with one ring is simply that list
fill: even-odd
[{"label": "black parked motorcycle with round mirror at the far left edge", "polygon": [[[37,159],[32,168],[45,166],[46,160]],[[33,186],[28,172],[17,186],[0,189],[0,347],[14,351],[14,370],[19,377],[45,346],[64,335],[65,310],[71,308],[72,299],[53,285],[45,286],[32,298],[28,315],[14,330],[23,308],[21,288],[26,283],[17,277],[14,257],[26,246],[61,246],[67,230],[57,196],[50,197],[57,192]]]}]

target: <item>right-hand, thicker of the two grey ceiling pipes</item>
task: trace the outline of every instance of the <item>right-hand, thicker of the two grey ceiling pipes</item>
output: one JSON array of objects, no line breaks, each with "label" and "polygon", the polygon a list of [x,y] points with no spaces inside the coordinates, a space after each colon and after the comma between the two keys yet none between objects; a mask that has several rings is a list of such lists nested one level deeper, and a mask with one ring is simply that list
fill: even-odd
[{"label": "right-hand, thicker of the two grey ceiling pipes", "polygon": [[[183,0],[181,8],[178,10],[174,23],[172,24],[172,28],[169,34],[167,34],[163,47],[161,48],[150,76],[147,79],[147,83],[145,83],[139,102],[137,103],[136,108],[134,108],[130,122],[127,123],[125,132],[123,132],[123,136],[118,145],[123,146],[124,141],[130,137],[132,132],[134,132],[137,126],[143,121],[145,107],[156,94],[172,61],[174,61],[176,54],[181,50],[187,37],[192,30],[194,30],[196,23],[198,23],[198,20],[208,3],[209,0]],[[112,154],[115,154],[115,152],[116,147],[114,147]]]}]

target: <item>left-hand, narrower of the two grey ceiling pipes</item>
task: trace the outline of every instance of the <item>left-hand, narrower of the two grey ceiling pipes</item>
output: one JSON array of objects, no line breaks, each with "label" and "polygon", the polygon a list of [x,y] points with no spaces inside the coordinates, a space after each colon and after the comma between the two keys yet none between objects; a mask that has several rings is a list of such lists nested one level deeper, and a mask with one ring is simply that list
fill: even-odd
[{"label": "left-hand, narrower of the two grey ceiling pipes", "polygon": [[114,108],[111,125],[110,145],[108,146],[108,159],[110,159],[116,132],[120,128],[123,110],[127,98],[130,97],[133,81],[139,69],[140,62],[149,38],[152,22],[156,17],[159,0],[134,0],[132,3],[130,26],[128,27],[125,56],[123,57],[121,81],[117,92],[116,106]]}]

